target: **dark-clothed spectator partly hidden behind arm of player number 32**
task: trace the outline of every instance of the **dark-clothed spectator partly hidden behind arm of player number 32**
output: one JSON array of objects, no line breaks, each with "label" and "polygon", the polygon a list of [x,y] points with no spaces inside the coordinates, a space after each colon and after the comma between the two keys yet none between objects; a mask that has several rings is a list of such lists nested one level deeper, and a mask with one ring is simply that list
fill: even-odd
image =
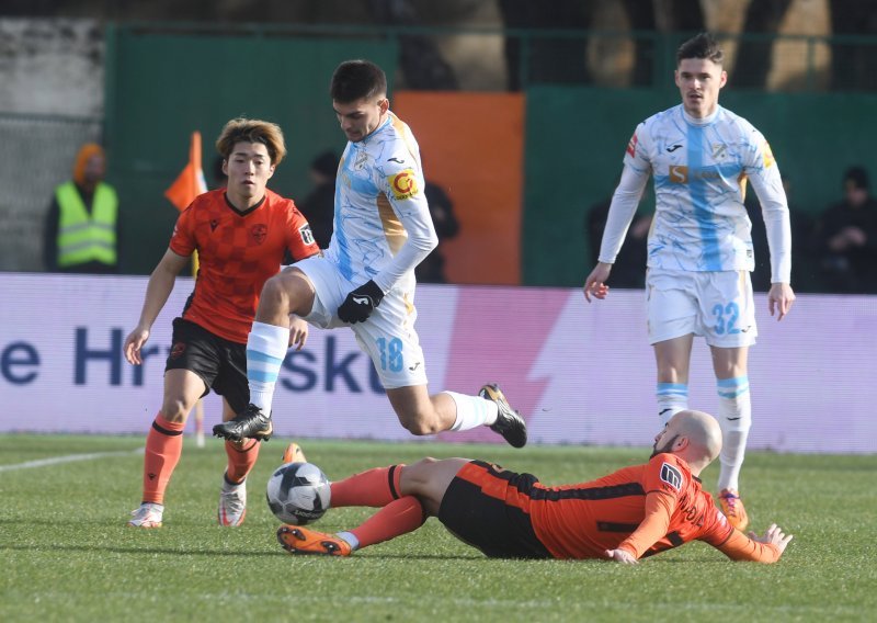
[{"label": "dark-clothed spectator partly hidden behind arm of player number 32", "polygon": [[[603,229],[606,228],[611,203],[612,197],[603,200],[594,204],[585,215],[584,237],[591,251],[592,264],[596,264],[600,256],[600,243],[603,240]],[[634,218],[627,239],[612,268],[612,282],[616,287],[646,287],[647,242],[650,227],[651,214],[639,214]]]}]

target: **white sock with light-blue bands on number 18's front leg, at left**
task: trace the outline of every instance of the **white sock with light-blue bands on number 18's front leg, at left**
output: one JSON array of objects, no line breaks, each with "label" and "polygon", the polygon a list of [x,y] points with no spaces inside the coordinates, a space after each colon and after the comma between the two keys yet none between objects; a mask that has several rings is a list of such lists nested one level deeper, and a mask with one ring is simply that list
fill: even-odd
[{"label": "white sock with light-blue bands on number 18's front leg, at left", "polygon": [[289,329],[264,322],[253,322],[247,338],[247,380],[250,403],[271,415],[274,385],[289,349]]}]

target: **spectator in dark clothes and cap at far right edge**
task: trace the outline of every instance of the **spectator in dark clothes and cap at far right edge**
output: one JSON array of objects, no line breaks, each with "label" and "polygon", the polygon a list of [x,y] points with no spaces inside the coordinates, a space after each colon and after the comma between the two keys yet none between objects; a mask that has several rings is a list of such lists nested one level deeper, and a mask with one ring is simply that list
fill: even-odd
[{"label": "spectator in dark clothes and cap at far right edge", "polygon": [[852,167],[843,177],[844,199],[817,225],[821,269],[828,292],[877,292],[877,201],[868,173]]}]

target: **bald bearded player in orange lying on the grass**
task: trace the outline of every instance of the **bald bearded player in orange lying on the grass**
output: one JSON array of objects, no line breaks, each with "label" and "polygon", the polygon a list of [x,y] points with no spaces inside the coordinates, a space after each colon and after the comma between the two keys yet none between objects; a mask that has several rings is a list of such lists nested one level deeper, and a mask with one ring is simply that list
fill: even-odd
[{"label": "bald bearded player in orange lying on the grass", "polygon": [[731,526],[698,475],[721,450],[715,418],[680,411],[654,438],[642,465],[578,485],[546,487],[481,461],[425,458],[332,483],[331,506],[383,507],[350,532],[283,525],[289,553],[349,556],[435,516],[487,556],[607,558],[636,564],[683,543],[704,541],[734,560],[775,563],[791,540],[775,524],[763,536]]}]

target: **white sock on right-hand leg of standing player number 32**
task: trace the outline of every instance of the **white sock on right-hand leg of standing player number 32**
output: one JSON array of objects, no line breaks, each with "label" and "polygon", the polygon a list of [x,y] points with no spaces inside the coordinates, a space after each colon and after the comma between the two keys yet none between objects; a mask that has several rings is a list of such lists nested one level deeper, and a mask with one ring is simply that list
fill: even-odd
[{"label": "white sock on right-hand leg of standing player number 32", "polygon": [[718,420],[721,427],[721,454],[718,488],[740,490],[740,468],[752,426],[752,399],[749,377],[722,378],[716,384],[719,394]]}]

